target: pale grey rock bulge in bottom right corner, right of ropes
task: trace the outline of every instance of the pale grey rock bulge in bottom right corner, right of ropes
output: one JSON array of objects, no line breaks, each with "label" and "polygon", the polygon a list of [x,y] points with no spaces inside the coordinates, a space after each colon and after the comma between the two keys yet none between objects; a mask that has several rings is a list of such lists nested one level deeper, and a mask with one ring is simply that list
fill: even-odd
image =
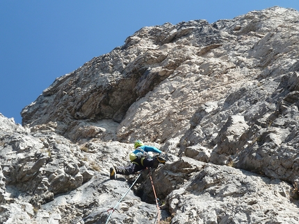
[{"label": "pale grey rock bulge in bottom right corner, right of ropes", "polygon": [[172,223],[298,223],[291,189],[277,179],[209,164],[172,191],[168,204]]}]

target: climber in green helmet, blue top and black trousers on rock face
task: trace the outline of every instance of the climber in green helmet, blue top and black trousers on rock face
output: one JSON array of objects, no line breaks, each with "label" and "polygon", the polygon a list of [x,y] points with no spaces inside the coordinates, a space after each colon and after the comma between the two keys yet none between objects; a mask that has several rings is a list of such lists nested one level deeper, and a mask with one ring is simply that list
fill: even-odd
[{"label": "climber in green helmet, blue top and black trousers on rock face", "polygon": [[[135,150],[129,155],[131,164],[127,167],[117,166],[110,168],[110,179],[115,180],[116,174],[130,175],[145,169],[146,167],[157,168],[159,163],[165,164],[166,160],[161,157],[161,150],[154,146],[145,146],[142,141],[134,142]],[[159,153],[154,157],[149,152]]]}]

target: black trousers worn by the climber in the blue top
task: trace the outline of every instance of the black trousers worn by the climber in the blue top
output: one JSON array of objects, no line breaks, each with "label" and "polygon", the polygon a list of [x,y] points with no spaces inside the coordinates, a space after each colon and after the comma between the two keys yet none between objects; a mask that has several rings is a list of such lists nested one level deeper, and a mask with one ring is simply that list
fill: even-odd
[{"label": "black trousers worn by the climber in the blue top", "polygon": [[152,158],[144,158],[143,164],[141,163],[141,159],[136,159],[132,161],[132,163],[129,166],[118,166],[115,167],[116,173],[122,174],[122,175],[130,175],[134,174],[138,171],[141,171],[145,169],[146,167],[152,168],[154,166],[154,159]]}]

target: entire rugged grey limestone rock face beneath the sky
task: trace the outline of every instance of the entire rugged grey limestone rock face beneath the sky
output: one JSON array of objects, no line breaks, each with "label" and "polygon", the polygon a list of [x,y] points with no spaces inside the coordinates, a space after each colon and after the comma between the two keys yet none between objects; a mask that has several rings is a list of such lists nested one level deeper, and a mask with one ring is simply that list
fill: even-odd
[{"label": "entire rugged grey limestone rock face beneath the sky", "polygon": [[[298,40],[290,8],[165,23],[56,78],[0,114],[0,223],[299,223]],[[168,161],[110,180],[136,139]]]}]

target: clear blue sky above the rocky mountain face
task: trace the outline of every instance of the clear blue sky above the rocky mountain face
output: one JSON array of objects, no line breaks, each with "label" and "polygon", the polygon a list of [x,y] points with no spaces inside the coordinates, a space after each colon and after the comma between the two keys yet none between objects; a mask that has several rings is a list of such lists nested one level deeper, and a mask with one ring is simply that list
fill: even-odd
[{"label": "clear blue sky above the rocky mountain face", "polygon": [[232,19],[298,0],[1,0],[0,113],[22,123],[20,112],[55,78],[122,46],[144,26]]}]

